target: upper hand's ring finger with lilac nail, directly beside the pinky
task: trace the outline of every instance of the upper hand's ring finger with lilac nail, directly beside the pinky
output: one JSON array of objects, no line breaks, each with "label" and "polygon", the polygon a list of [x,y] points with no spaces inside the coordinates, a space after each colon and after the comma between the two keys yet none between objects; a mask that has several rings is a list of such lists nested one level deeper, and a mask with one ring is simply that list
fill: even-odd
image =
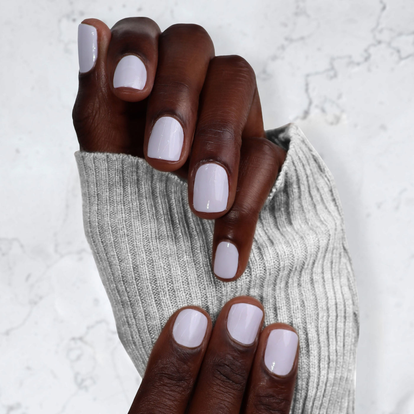
[{"label": "upper hand's ring finger with lilac nail, directly beside the pinky", "polygon": [[241,136],[255,90],[255,74],[246,60],[240,56],[211,60],[188,172],[188,202],[199,217],[215,219],[233,204]]}]

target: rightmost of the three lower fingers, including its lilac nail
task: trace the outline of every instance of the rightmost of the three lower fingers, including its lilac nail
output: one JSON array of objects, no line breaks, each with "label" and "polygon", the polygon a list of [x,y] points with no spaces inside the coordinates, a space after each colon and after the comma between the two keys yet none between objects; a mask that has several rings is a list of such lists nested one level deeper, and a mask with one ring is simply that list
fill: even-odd
[{"label": "rightmost of the three lower fingers, including its lilac nail", "polygon": [[289,414],[298,371],[296,331],[275,323],[262,334],[246,388],[242,414]]}]

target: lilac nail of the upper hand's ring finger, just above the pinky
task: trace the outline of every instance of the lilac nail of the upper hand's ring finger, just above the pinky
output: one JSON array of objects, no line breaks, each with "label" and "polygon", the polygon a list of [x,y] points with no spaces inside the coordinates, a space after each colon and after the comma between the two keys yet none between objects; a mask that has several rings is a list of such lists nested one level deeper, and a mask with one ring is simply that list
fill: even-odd
[{"label": "lilac nail of the upper hand's ring finger, just above the pinky", "polygon": [[193,205],[199,212],[217,213],[227,207],[229,179],[218,164],[203,164],[195,173]]}]

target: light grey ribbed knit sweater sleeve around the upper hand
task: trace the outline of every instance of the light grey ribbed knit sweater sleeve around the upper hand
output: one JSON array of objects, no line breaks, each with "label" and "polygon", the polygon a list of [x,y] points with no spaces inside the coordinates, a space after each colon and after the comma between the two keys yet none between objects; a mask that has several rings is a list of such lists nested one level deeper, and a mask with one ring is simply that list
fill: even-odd
[{"label": "light grey ribbed knit sweater sleeve around the upper hand", "polygon": [[75,154],[85,234],[140,375],[175,310],[198,305],[214,320],[229,299],[250,295],[265,307],[266,325],[298,331],[291,412],[353,413],[358,298],[335,181],[296,125],[267,137],[288,150],[287,158],[260,213],[248,267],[235,282],[214,277],[214,222],[190,211],[187,183],[144,159]]}]

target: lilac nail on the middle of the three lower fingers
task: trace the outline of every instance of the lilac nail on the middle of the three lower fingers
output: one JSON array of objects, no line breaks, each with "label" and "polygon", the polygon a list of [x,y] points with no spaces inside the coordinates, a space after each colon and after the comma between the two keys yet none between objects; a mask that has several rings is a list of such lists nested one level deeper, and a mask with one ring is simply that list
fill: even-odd
[{"label": "lilac nail on the middle of the three lower fingers", "polygon": [[233,339],[245,345],[255,342],[262,325],[263,311],[250,303],[235,303],[227,317],[227,330]]}]

